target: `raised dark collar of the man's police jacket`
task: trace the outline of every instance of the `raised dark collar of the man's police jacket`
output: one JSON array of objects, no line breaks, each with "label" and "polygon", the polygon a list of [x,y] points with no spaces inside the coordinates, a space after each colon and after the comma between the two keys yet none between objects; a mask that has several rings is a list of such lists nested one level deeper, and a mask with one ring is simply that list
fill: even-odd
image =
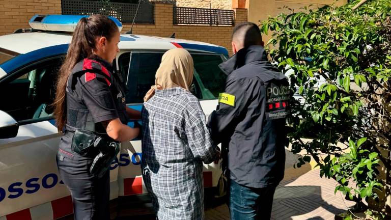
[{"label": "raised dark collar of the man's police jacket", "polygon": [[240,49],[234,56],[219,65],[220,69],[227,75],[234,70],[254,61],[267,61],[267,54],[263,46],[252,45]]}]

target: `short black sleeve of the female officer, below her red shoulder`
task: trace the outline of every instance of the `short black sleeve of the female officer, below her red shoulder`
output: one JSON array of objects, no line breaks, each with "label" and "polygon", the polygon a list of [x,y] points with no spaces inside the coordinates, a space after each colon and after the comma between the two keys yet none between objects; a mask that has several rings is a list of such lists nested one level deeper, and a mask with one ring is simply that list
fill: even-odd
[{"label": "short black sleeve of the female officer, below her red shoulder", "polygon": [[119,118],[109,85],[102,77],[97,76],[84,84],[82,100],[95,123]]}]

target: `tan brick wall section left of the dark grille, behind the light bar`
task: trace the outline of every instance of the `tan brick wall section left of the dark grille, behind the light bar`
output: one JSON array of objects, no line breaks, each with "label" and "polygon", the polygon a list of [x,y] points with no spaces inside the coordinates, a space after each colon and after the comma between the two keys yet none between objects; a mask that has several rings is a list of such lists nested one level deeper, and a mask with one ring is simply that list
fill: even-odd
[{"label": "tan brick wall section left of the dark grille, behind the light bar", "polygon": [[0,0],[0,35],[30,28],[35,14],[61,14],[61,0]]}]

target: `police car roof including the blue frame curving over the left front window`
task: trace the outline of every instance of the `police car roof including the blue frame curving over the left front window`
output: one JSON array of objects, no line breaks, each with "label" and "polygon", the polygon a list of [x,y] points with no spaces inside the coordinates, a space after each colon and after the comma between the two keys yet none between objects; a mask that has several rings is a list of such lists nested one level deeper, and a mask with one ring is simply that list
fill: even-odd
[{"label": "police car roof including the blue frame curving over the left front window", "polygon": [[[18,55],[0,65],[0,78],[37,60],[65,54],[71,39],[72,34],[64,32],[30,32],[0,36],[0,49]],[[190,52],[225,54],[228,56],[228,50],[225,47],[214,44],[144,35],[121,34],[118,46],[121,51],[164,51],[182,47]]]}]

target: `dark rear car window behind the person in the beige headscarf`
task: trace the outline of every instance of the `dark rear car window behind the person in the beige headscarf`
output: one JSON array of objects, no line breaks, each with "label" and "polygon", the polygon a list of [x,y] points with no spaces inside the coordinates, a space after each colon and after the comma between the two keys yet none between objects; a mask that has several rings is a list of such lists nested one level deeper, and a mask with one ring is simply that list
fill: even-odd
[{"label": "dark rear car window behind the person in the beige headscarf", "polygon": [[[127,103],[142,103],[143,97],[155,85],[155,73],[163,52],[124,53],[119,57],[119,70],[127,79]],[[218,65],[220,55],[191,54],[194,60],[194,78],[190,91],[199,99],[216,99],[224,91],[226,75]],[[130,65],[129,65],[130,60]]]}]

